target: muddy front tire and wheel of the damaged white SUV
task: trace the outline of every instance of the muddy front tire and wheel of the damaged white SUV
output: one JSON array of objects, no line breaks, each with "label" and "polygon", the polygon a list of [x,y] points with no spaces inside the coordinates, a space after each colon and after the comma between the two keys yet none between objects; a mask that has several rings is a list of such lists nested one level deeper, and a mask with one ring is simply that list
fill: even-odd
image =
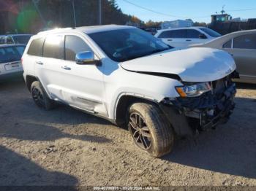
[{"label": "muddy front tire and wheel of the damaged white SUV", "polygon": [[153,157],[162,157],[173,149],[173,128],[157,106],[132,104],[128,128],[135,144]]}]

